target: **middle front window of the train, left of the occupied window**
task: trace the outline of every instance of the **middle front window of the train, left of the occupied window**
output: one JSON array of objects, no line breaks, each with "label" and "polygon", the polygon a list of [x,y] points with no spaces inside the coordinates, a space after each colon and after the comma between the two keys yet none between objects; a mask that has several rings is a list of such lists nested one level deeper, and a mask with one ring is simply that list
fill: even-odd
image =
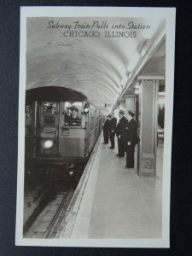
[{"label": "middle front window of the train, left of the occupied window", "polygon": [[59,104],[58,102],[43,102],[42,108],[42,126],[57,126],[58,125],[58,113],[59,113]]}]

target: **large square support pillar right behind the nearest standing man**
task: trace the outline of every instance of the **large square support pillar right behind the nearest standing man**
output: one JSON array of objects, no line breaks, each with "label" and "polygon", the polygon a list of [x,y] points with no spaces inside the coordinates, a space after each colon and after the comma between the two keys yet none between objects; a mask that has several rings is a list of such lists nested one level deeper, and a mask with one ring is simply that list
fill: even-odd
[{"label": "large square support pillar right behind the nearest standing man", "polygon": [[138,145],[139,177],[155,177],[157,147],[158,80],[142,80],[139,98],[140,143]]}]

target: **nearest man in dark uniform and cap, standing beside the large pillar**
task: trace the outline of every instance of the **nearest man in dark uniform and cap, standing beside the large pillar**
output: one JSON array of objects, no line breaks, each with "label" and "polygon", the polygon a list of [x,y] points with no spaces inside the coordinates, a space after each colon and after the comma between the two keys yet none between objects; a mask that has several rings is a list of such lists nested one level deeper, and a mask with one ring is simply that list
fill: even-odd
[{"label": "nearest man in dark uniform and cap, standing beside the large pillar", "polygon": [[126,131],[126,166],[125,168],[134,168],[134,152],[137,143],[137,122],[133,119],[135,113],[128,111],[128,124]]}]

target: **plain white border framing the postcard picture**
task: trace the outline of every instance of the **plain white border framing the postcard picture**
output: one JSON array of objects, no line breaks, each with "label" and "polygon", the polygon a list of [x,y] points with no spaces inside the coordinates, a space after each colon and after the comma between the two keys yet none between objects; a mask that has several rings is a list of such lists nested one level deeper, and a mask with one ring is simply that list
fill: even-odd
[{"label": "plain white border framing the postcard picture", "polygon": [[[21,7],[18,176],[15,244],[48,247],[169,247],[174,84],[175,8]],[[26,239],[22,236],[25,155],[26,18],[27,17],[160,17],[166,18],[166,117],[163,161],[162,239]]]}]

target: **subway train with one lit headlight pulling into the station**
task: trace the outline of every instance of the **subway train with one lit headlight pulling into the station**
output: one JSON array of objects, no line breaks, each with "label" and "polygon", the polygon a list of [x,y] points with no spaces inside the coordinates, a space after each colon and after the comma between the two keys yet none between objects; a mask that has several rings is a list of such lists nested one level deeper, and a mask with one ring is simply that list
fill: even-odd
[{"label": "subway train with one lit headlight pulling into the station", "polygon": [[103,117],[83,93],[49,86],[26,90],[25,170],[68,177],[84,166]]}]

